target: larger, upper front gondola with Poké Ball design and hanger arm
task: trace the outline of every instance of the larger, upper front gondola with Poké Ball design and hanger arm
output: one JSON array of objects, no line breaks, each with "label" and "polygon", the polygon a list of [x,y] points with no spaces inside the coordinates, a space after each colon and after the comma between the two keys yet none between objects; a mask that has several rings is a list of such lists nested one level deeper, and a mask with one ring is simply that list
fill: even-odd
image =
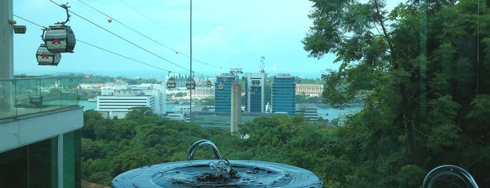
[{"label": "larger, upper front gondola with Pok\u00e9 Ball design and hanger arm", "polygon": [[69,6],[62,4],[61,7],[67,11],[67,20],[57,22],[55,25],[50,25],[48,28],[43,29],[41,37],[48,51],[53,53],[73,53],[76,43],[75,34],[71,27],[64,25],[69,21]]}]

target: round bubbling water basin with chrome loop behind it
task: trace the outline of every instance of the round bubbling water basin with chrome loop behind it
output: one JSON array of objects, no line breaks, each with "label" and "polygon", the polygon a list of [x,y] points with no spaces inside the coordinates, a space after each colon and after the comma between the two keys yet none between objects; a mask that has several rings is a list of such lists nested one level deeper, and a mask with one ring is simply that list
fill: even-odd
[{"label": "round bubbling water basin with chrome loop behind it", "polygon": [[[210,147],[217,159],[192,160],[200,147]],[[122,173],[112,187],[323,187],[309,170],[282,163],[221,159],[214,143],[195,142],[188,161],[144,166]]]}]

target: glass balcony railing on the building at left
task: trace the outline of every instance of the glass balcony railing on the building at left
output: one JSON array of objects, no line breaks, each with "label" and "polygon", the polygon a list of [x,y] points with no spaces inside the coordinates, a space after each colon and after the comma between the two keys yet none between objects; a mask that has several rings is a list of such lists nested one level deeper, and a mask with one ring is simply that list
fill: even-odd
[{"label": "glass balcony railing on the building at left", "polygon": [[76,107],[77,87],[69,76],[0,79],[0,119]]}]

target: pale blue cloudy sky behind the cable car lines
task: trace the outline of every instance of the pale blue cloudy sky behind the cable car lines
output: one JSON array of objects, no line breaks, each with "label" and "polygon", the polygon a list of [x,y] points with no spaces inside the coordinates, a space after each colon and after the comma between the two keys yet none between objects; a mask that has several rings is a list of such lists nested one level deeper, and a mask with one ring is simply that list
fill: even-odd
[{"label": "pale blue cloudy sky behind the cable car lines", "polygon": [[73,12],[67,25],[79,40],[74,53],[62,53],[58,66],[37,65],[35,53],[42,43],[37,25],[64,21],[66,13],[49,0],[15,0],[13,18],[27,26],[26,34],[14,35],[15,74],[189,74],[191,41],[195,77],[217,76],[231,68],[259,72],[261,57],[268,76],[320,78],[323,70],[339,66],[332,63],[334,55],[318,60],[304,51],[301,40],[312,26],[310,1],[194,0],[191,19],[190,1],[52,1],[68,2]]}]

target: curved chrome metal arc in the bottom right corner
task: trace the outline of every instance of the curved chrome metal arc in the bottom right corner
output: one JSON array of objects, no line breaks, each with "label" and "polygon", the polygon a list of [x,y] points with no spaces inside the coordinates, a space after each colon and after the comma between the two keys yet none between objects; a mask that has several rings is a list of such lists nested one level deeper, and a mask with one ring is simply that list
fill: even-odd
[{"label": "curved chrome metal arc in the bottom right corner", "polygon": [[434,168],[433,170],[430,170],[430,172],[426,175],[426,178],[423,179],[422,187],[432,187],[437,178],[445,175],[455,175],[456,177],[459,177],[459,179],[463,180],[463,182],[465,182],[466,187],[478,188],[477,182],[475,182],[475,179],[473,179],[468,171],[454,165],[443,165]]}]

